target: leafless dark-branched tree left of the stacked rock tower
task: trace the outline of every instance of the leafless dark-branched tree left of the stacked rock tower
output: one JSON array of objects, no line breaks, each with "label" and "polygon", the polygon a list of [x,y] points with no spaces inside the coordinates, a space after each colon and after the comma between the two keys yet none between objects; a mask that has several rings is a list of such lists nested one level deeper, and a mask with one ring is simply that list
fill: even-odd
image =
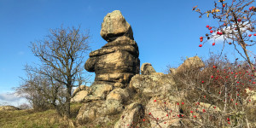
[{"label": "leafless dark-branched tree left of the stacked rock tower", "polygon": [[30,85],[36,86],[36,90],[40,90],[38,92],[50,92],[49,97],[43,95],[46,101],[51,102],[57,112],[66,118],[70,117],[72,88],[84,80],[84,56],[90,49],[88,38],[88,34],[81,32],[80,27],[65,29],[61,26],[50,29],[46,38],[33,42],[30,47],[42,64],[40,67],[26,66],[26,71],[38,74],[40,80],[37,81],[45,84]]}]

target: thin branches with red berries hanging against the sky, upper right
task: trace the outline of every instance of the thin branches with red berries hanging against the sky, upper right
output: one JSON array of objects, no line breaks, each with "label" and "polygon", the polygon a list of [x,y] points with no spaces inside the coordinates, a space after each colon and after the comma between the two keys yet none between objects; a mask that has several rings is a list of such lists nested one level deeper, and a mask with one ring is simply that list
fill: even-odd
[{"label": "thin branches with red berries hanging against the sky, upper right", "polygon": [[[252,39],[252,36],[256,36],[256,33],[253,34],[256,32],[254,28],[256,21],[253,19],[256,9],[252,6],[253,3],[254,0],[218,0],[214,1],[213,9],[202,12],[195,6],[192,10],[198,12],[200,18],[207,15],[208,18],[212,17],[212,20],[218,23],[218,26],[207,25],[210,33],[207,33],[206,37],[201,37],[201,42],[203,38],[214,40],[224,38],[223,48],[225,44],[234,45],[236,51],[247,61],[256,76],[252,58],[250,58],[251,55],[255,55],[248,49],[256,44],[256,41]],[[202,44],[199,46],[201,47]]]}]

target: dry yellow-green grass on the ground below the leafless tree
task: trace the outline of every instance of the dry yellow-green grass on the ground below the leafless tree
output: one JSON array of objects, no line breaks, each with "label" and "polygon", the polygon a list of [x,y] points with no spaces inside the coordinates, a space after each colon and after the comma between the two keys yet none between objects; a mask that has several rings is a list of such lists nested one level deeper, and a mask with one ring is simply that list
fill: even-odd
[{"label": "dry yellow-green grass on the ground below the leafless tree", "polygon": [[[79,113],[82,103],[71,105],[72,120]],[[3,128],[55,128],[68,127],[67,121],[61,119],[50,109],[44,112],[33,112],[32,110],[1,111],[0,125]]]}]

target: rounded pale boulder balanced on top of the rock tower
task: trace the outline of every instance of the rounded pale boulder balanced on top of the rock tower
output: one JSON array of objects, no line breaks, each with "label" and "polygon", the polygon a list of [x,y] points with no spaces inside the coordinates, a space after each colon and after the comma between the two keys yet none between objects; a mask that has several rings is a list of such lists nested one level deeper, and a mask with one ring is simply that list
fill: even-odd
[{"label": "rounded pale boulder balanced on top of the rock tower", "polygon": [[106,41],[113,41],[116,37],[123,35],[133,39],[130,24],[125,20],[119,10],[114,10],[104,17],[101,36]]}]

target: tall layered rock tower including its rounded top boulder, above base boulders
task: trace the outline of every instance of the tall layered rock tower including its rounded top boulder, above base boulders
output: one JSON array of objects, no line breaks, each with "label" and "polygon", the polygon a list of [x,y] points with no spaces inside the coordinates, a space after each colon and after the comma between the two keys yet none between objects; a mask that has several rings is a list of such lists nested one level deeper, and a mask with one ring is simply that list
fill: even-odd
[{"label": "tall layered rock tower including its rounded top boulder, above base boulders", "polygon": [[131,25],[119,10],[114,10],[104,17],[101,36],[108,44],[90,52],[85,70],[96,73],[94,84],[125,88],[140,67]]}]

